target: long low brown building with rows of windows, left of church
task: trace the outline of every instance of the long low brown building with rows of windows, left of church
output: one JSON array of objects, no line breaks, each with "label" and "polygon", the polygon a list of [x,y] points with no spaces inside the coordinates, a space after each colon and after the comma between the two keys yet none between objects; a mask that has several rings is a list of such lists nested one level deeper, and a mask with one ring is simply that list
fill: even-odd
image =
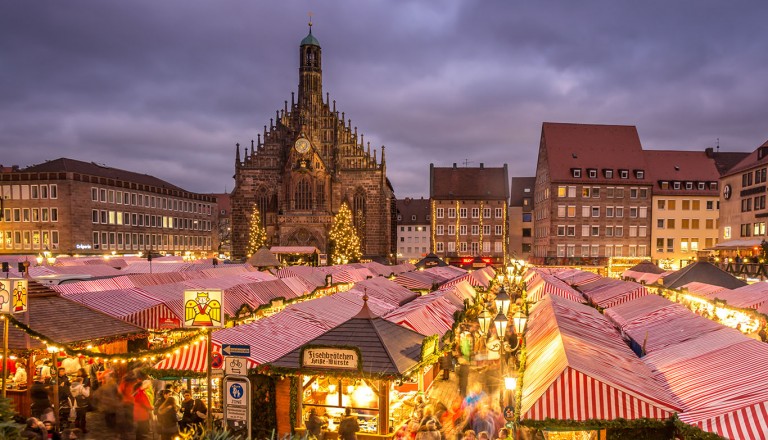
[{"label": "long low brown building with rows of windows, left of church", "polygon": [[0,253],[208,255],[216,198],[73,159],[0,173]]}]

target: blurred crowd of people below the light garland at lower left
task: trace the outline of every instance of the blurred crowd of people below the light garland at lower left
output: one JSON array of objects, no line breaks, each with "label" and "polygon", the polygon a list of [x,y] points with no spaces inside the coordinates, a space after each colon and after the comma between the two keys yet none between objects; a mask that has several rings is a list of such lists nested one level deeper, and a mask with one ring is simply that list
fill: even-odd
[{"label": "blurred crowd of people below the light garland at lower left", "polygon": [[[208,408],[179,383],[153,380],[141,370],[128,371],[118,378],[103,360],[83,364],[74,374],[62,365],[56,378],[51,377],[50,370],[38,369],[30,390],[32,417],[22,430],[22,438],[80,438],[88,432],[86,414],[93,410],[104,417],[115,439],[148,440],[159,436],[161,440],[172,440],[180,432],[202,431]],[[56,397],[60,431],[54,427]]]}]

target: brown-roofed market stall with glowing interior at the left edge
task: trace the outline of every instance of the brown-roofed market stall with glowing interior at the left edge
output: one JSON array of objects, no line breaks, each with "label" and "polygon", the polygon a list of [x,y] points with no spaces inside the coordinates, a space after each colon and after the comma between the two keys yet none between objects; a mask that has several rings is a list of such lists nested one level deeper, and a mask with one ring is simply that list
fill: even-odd
[{"label": "brown-roofed market stall with glowing interior at the left edge", "polygon": [[134,344],[146,346],[143,328],[71,301],[34,281],[28,286],[27,311],[8,315],[9,358],[15,358],[16,368],[25,369],[26,374],[15,375],[23,380],[9,380],[6,393],[20,415],[30,415],[33,381],[53,375],[56,366],[74,374],[95,358],[118,357],[118,363],[125,363]]}]

